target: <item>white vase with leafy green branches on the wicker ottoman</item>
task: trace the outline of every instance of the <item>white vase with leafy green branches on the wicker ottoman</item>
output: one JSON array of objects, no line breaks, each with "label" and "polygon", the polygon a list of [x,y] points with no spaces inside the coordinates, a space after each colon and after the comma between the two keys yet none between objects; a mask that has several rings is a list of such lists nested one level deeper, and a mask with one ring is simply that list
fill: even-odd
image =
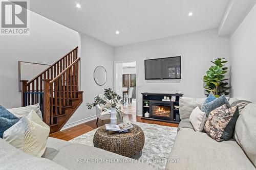
[{"label": "white vase with leafy green branches on the wicker ottoman", "polygon": [[111,105],[111,112],[110,112],[110,121],[112,125],[117,125],[118,123],[122,123],[123,122],[123,117],[121,114],[121,109],[119,108],[119,104],[122,103],[121,100],[121,96],[119,96],[116,92],[114,92],[111,88],[108,89],[104,89],[104,95],[103,96],[99,96],[96,95],[95,96],[95,100],[93,103],[87,103],[87,108],[88,109],[92,109],[93,107],[95,107],[97,104],[110,104]]}]

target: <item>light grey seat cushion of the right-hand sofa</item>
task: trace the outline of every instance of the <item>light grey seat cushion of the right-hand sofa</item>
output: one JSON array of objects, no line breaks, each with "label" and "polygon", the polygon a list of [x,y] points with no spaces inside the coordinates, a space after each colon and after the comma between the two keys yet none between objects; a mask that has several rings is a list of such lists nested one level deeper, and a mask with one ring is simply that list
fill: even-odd
[{"label": "light grey seat cushion of the right-hand sofa", "polygon": [[182,128],[176,136],[166,169],[255,170],[255,167],[233,139],[217,142],[206,133],[198,133],[193,129]]}]

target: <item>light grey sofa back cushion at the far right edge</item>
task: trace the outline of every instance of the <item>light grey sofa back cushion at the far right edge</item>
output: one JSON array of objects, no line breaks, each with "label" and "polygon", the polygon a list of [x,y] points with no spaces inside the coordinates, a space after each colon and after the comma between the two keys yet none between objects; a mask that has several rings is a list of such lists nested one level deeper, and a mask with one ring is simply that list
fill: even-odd
[{"label": "light grey sofa back cushion at the far right edge", "polygon": [[234,139],[256,166],[256,104],[248,104],[238,117]]}]

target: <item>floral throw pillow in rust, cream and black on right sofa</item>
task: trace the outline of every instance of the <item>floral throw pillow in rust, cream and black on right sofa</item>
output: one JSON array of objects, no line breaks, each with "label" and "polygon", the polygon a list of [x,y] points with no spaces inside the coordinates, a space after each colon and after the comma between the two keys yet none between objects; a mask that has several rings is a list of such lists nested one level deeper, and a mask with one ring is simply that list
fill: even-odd
[{"label": "floral throw pillow in rust, cream and black on right sofa", "polygon": [[216,141],[229,140],[233,136],[238,115],[237,106],[229,108],[226,104],[222,105],[210,112],[204,131]]}]

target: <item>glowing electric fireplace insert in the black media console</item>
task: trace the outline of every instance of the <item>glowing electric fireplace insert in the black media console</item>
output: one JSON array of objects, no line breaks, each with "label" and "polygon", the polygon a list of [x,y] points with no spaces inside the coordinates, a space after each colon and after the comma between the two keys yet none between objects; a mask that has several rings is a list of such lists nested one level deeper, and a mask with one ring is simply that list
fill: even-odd
[{"label": "glowing electric fireplace insert in the black media console", "polygon": [[171,120],[172,104],[169,102],[151,102],[150,117],[163,120]]}]

